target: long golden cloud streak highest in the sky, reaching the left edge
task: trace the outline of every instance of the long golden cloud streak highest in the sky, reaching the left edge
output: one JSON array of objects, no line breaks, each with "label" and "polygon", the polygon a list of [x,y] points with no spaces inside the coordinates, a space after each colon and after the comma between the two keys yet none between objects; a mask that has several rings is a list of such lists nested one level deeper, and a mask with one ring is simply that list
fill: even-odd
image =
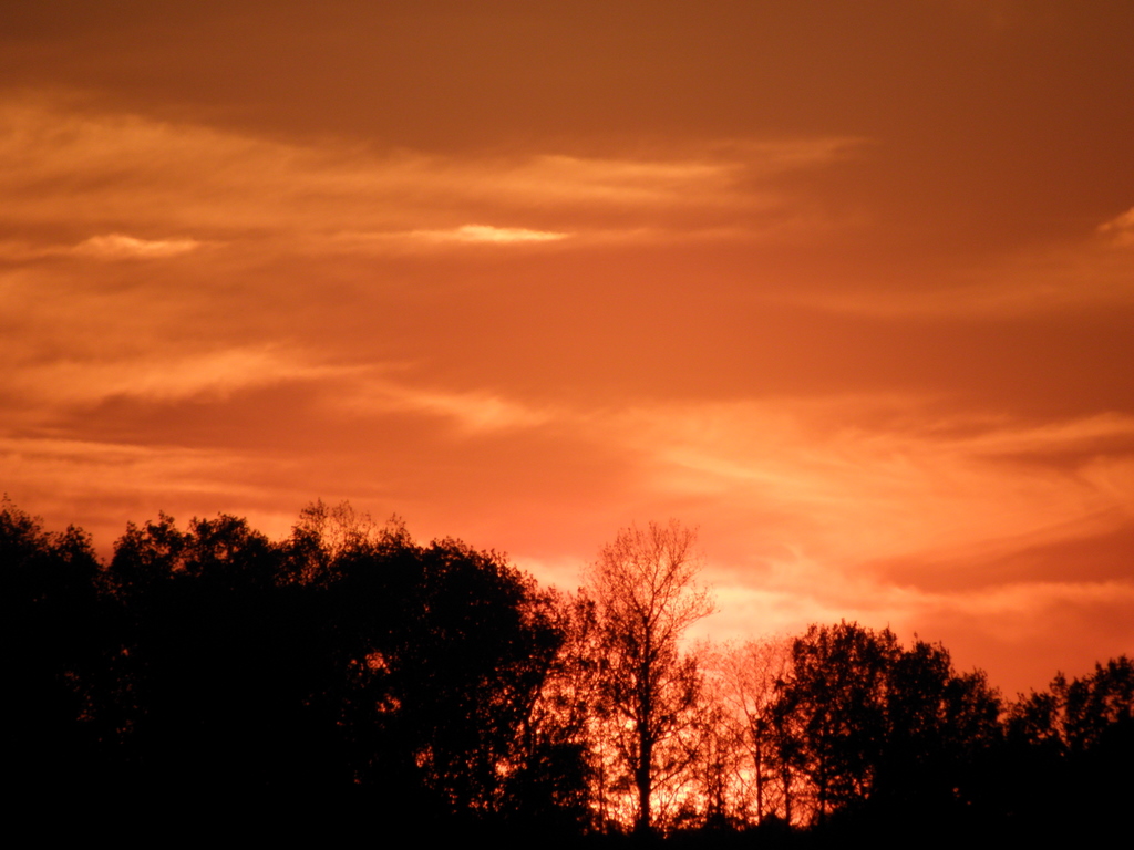
[{"label": "long golden cloud streak highest in the sky, reaching the left edge", "polygon": [[0,158],[10,163],[0,175],[0,220],[37,232],[84,227],[99,236],[76,250],[99,258],[174,256],[235,238],[335,250],[366,241],[352,243],[352,233],[373,235],[371,248],[406,238],[503,246],[585,231],[662,236],[705,213],[710,229],[743,231],[753,213],[801,216],[789,190],[769,178],[823,168],[861,144],[830,137],[625,156],[443,156],[10,101],[0,104]]}]

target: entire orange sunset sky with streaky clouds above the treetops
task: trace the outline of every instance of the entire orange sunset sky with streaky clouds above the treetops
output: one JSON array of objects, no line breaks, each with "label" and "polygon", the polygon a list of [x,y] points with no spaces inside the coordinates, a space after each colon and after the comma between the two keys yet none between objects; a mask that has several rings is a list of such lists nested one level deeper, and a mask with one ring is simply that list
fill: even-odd
[{"label": "entire orange sunset sky with streaky clouds above the treetops", "polygon": [[0,490],[315,499],[1008,696],[1134,652],[1134,2],[0,11]]}]

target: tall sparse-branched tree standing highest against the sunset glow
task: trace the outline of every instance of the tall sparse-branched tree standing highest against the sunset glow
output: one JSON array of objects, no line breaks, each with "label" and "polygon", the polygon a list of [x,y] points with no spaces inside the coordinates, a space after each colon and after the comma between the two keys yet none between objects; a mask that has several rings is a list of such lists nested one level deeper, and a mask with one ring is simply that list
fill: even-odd
[{"label": "tall sparse-branched tree standing highest against the sunset glow", "polygon": [[688,626],[712,611],[696,583],[696,532],[676,520],[631,526],[599,553],[589,575],[604,666],[603,694],[617,722],[615,747],[636,796],[635,830],[654,821],[654,791],[689,760],[697,697],[695,661],[680,652]]}]

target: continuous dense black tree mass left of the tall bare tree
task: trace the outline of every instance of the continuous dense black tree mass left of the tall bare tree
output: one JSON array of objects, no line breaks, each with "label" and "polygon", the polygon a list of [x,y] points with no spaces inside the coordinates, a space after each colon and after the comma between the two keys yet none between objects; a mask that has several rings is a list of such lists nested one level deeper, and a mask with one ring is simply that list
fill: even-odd
[{"label": "continuous dense black tree mass left of the tall bare tree", "polygon": [[86,538],[5,504],[20,774],[174,800],[344,794],[372,814],[582,828],[583,745],[538,716],[550,595],[457,541],[315,504],[273,544],[234,517]]}]

